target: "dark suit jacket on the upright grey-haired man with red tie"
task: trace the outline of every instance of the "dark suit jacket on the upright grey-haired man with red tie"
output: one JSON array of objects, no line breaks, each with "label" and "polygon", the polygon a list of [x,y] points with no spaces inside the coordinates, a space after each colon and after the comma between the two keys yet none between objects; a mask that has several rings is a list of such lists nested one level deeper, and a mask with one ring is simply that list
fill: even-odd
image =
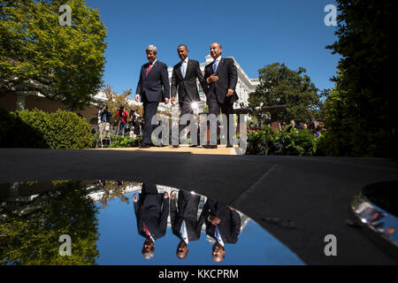
[{"label": "dark suit jacket on the upright grey-haired man with red tie", "polygon": [[138,80],[135,94],[142,96],[145,89],[145,96],[149,102],[163,102],[170,98],[170,82],[167,73],[167,65],[157,60],[146,76],[149,63],[142,65],[140,80]]}]

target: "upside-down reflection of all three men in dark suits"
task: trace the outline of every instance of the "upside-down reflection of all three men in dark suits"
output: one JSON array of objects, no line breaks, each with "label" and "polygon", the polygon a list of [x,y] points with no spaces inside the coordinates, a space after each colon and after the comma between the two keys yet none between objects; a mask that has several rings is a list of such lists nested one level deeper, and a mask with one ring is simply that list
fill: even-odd
[{"label": "upside-down reflection of all three men in dark suits", "polygon": [[142,256],[149,259],[155,255],[155,241],[165,236],[170,206],[172,233],[180,239],[176,256],[183,259],[188,255],[189,242],[200,239],[205,223],[206,234],[216,240],[212,247],[212,258],[215,262],[223,261],[226,256],[225,244],[238,241],[241,218],[231,207],[210,199],[198,217],[199,202],[200,195],[180,191],[177,203],[174,192],[169,203],[167,192],[162,195],[158,193],[156,185],[142,184],[142,193],[139,197],[134,195],[137,231],[145,238]]}]

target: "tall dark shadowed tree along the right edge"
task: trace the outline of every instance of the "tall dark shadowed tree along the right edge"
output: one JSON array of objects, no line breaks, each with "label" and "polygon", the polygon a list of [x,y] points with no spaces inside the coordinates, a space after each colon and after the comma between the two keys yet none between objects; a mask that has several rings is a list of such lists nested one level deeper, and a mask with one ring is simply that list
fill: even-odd
[{"label": "tall dark shadowed tree along the right edge", "polygon": [[337,0],[340,54],[335,88],[325,101],[328,155],[398,157],[398,4],[389,0]]}]

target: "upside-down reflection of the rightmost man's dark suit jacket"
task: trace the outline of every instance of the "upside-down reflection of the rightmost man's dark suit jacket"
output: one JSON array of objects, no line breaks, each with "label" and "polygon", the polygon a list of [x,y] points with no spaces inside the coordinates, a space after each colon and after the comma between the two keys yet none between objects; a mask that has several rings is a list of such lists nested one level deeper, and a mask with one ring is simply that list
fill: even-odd
[{"label": "upside-down reflection of the rightmost man's dark suit jacket", "polygon": [[210,199],[204,204],[203,218],[206,223],[206,234],[216,238],[216,226],[213,226],[207,219],[210,214],[217,216],[221,221],[218,224],[218,231],[225,243],[235,243],[241,233],[241,217],[238,212],[230,210],[225,204],[214,202]]}]

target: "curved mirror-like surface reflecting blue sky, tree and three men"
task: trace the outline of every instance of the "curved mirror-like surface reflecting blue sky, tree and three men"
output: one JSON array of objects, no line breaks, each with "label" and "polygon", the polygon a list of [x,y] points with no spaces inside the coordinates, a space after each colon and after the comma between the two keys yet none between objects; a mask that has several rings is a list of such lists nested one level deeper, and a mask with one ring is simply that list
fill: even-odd
[{"label": "curved mirror-like surface reflecting blue sky, tree and three men", "polygon": [[[173,187],[33,181],[1,184],[0,199],[2,264],[303,264],[240,211]],[[152,251],[143,252],[146,239]]]}]

